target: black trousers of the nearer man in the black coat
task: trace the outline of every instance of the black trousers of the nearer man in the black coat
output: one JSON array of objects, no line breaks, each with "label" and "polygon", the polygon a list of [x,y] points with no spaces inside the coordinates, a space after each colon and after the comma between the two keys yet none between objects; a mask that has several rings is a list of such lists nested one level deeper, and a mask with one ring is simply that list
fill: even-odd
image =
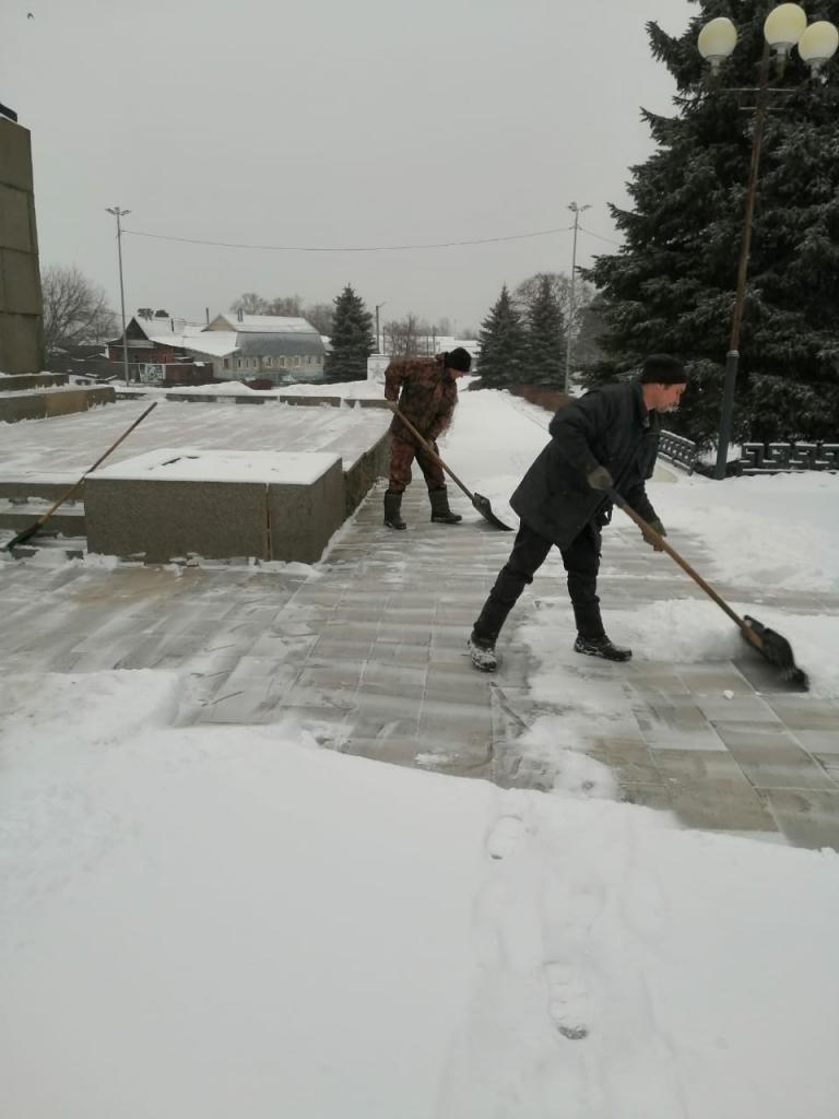
[{"label": "black trousers of the nearer man in the black coat", "polygon": [[[534,574],[541,567],[554,547],[532,528],[521,523],[512,545],[510,558],[499,572],[496,585],[474,623],[475,637],[494,642],[525,587],[532,583]],[[597,598],[601,538],[596,525],[588,524],[566,548],[559,548],[568,573],[568,594],[574,608],[574,620],[581,637],[604,636]]]}]

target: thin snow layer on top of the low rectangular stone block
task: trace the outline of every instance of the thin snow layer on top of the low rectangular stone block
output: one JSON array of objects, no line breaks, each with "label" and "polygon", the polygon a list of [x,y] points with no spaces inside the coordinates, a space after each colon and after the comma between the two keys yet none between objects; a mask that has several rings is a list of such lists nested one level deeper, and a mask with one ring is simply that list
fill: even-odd
[{"label": "thin snow layer on top of the low rectangular stone block", "polygon": [[317,451],[205,451],[164,446],[112,467],[102,467],[96,478],[312,486],[340,461],[337,454]]}]

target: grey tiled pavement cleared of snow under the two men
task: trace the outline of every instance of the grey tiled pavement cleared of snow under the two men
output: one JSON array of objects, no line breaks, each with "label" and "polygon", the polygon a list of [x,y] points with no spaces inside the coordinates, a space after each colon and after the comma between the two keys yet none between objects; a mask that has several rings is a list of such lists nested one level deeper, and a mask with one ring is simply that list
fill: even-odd
[{"label": "grey tiled pavement cleared of snow under the two men", "polygon": [[[380,524],[380,491],[371,495],[312,577],[294,568],[7,562],[0,671],[171,669],[185,681],[181,724],[294,714],[324,745],[349,753],[549,788],[557,760],[520,740],[556,706],[531,698],[518,633],[540,598],[564,594],[560,564],[546,564],[511,617],[498,676],[475,673],[465,638],[511,536],[459,495],[453,505],[466,524],[431,525],[414,486],[404,502],[411,527],[393,533]],[[605,536],[604,602],[701,596],[676,568],[645,577],[652,553],[634,533],[613,526]],[[673,544],[707,570],[700,542],[673,534]],[[839,596],[771,601],[839,614]],[[839,847],[837,703],[789,693],[746,649],[736,664],[614,666],[571,651],[559,664],[615,698],[618,716],[594,721],[577,745],[612,769],[623,799],[671,810],[688,827]],[[566,706],[574,711],[574,697]]]}]

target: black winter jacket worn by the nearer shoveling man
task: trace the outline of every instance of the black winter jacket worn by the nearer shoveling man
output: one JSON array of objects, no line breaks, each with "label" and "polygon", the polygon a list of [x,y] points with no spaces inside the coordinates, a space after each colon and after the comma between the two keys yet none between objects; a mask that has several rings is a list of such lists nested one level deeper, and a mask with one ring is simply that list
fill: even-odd
[{"label": "black winter jacket worn by the nearer shoveling man", "polygon": [[590,523],[606,524],[612,502],[586,476],[606,467],[614,488],[644,520],[656,520],[644,482],[652,477],[661,422],[638,380],[595,388],[560,408],[550,442],[521,479],[510,505],[546,539],[567,547]]}]

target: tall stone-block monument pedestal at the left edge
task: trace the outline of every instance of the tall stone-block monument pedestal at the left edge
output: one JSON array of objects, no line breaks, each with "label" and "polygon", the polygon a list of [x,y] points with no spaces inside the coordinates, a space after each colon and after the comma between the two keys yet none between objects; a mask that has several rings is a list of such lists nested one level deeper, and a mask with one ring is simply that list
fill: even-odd
[{"label": "tall stone-block monument pedestal at the left edge", "polygon": [[45,366],[29,132],[0,117],[0,372]]}]

